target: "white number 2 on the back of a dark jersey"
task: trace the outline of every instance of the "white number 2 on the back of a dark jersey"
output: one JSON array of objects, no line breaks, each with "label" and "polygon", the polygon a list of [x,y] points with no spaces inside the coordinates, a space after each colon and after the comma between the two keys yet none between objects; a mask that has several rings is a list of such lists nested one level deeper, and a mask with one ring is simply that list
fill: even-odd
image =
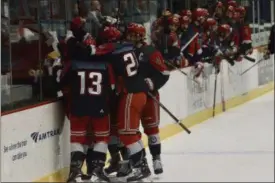
[{"label": "white number 2 on the back of a dark jersey", "polygon": [[133,53],[127,53],[123,56],[124,62],[126,63],[126,72],[129,77],[137,74],[138,62]]}]

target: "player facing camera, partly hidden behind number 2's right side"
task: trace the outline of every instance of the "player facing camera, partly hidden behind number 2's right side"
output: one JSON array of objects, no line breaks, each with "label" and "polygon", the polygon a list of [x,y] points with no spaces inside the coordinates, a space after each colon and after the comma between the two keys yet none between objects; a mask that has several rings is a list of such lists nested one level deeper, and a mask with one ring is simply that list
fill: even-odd
[{"label": "player facing camera, partly hidden behind number 2's right side", "polygon": [[[147,45],[145,40],[146,30],[142,25],[128,27],[135,37],[131,39],[136,48],[136,55],[139,58],[140,67],[146,82],[151,86],[150,92],[159,100],[158,90],[168,81],[169,72],[161,53],[153,46]],[[161,142],[159,136],[159,105],[151,98],[147,98],[145,108],[142,112],[142,126],[148,136],[149,150],[153,159],[153,169],[155,174],[163,172],[161,163]]]}]

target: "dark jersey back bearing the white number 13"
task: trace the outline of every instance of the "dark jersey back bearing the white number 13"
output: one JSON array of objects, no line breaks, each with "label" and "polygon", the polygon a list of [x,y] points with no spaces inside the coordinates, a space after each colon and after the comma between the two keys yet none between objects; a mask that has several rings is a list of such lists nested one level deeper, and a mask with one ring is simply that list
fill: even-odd
[{"label": "dark jersey back bearing the white number 13", "polygon": [[109,113],[109,67],[102,60],[73,60],[71,65],[71,114],[100,117]]}]

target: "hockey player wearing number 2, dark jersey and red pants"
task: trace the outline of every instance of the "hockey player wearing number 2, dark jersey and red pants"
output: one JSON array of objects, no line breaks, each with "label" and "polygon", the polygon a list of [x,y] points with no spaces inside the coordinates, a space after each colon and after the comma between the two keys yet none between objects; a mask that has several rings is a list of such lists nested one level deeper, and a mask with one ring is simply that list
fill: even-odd
[{"label": "hockey player wearing number 2, dark jersey and red pants", "polygon": [[150,83],[140,73],[137,58],[132,44],[119,44],[120,32],[114,27],[105,27],[100,34],[106,44],[99,50],[109,47],[111,52],[106,55],[114,68],[116,78],[120,78],[118,87],[122,89],[119,96],[118,135],[120,141],[127,147],[129,162],[133,167],[121,168],[117,173],[118,181],[136,181],[150,176],[151,172],[144,154],[144,146],[139,132],[139,121],[143,111]]}]

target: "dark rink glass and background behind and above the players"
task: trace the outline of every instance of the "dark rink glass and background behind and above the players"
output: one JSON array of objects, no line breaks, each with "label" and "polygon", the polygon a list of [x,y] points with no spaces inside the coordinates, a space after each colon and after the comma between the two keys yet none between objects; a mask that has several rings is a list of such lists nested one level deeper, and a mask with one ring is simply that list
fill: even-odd
[{"label": "dark rink glass and background behind and above the players", "polygon": [[[45,70],[45,59],[51,49],[47,36],[66,36],[70,20],[100,8],[98,16],[119,17],[143,24],[150,42],[150,25],[164,9],[177,13],[182,9],[211,7],[211,0],[2,0],[1,1],[1,111],[31,108],[56,100],[51,77]],[[79,3],[77,3],[79,2]],[[267,31],[274,22],[274,0],[240,0],[247,8],[253,33]],[[267,8],[268,7],[268,8]],[[270,8],[269,8],[270,7]],[[119,14],[117,13],[119,10]],[[101,15],[100,15],[101,14]],[[98,26],[87,18],[87,29],[94,37]],[[30,31],[32,30],[32,31]],[[26,36],[28,35],[28,36]],[[23,38],[27,37],[27,39]],[[259,40],[254,46],[266,44]]]}]

